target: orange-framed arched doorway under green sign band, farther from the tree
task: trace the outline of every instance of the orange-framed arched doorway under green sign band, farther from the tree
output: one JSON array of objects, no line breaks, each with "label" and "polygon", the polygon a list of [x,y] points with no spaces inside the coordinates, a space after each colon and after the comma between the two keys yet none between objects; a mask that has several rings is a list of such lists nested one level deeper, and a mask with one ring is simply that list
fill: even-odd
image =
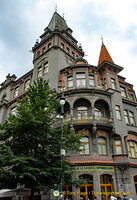
[{"label": "orange-framed arched doorway under green sign band, farther from the tree", "polygon": [[112,176],[103,174],[100,176],[101,200],[110,200],[113,191]]}]

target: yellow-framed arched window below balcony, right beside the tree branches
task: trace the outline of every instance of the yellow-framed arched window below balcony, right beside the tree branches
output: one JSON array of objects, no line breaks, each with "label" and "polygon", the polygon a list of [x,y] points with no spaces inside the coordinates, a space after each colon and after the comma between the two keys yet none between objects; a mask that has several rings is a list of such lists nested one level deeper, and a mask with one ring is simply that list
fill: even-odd
[{"label": "yellow-framed arched window below balcony, right beside the tree branches", "polygon": [[80,139],[80,155],[88,155],[89,154],[89,138],[83,137]]}]

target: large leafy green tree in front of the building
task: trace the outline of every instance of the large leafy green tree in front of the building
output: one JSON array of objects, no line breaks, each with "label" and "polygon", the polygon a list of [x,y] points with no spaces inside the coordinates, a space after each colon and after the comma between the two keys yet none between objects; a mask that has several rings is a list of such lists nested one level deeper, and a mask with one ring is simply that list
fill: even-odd
[{"label": "large leafy green tree in front of the building", "polygon": [[[20,183],[29,186],[33,194],[36,189],[58,185],[60,174],[70,171],[64,158],[63,172],[60,168],[58,109],[56,94],[40,79],[18,102],[16,115],[9,115],[0,126],[0,188]],[[63,148],[78,150],[80,138],[69,125],[64,126]]]}]

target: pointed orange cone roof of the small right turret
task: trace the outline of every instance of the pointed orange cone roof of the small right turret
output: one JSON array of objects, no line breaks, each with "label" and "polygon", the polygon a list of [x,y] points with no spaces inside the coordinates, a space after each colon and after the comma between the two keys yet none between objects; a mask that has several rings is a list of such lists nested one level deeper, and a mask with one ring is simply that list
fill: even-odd
[{"label": "pointed orange cone roof of the small right turret", "polygon": [[102,46],[101,46],[101,50],[100,50],[100,56],[99,56],[99,60],[98,60],[98,66],[104,61],[108,61],[108,62],[114,64],[114,62],[113,62],[113,60],[112,60],[107,48],[105,47],[105,45],[104,45],[104,43],[102,41]]}]

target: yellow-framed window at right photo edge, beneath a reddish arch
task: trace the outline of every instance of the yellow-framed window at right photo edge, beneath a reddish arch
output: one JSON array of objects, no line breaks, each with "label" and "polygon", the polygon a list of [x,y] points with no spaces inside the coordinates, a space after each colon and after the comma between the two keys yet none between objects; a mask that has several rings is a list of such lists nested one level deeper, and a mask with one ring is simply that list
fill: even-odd
[{"label": "yellow-framed window at right photo edge, beneath a reddish arch", "polygon": [[137,158],[137,142],[128,141],[128,154],[130,158]]}]

